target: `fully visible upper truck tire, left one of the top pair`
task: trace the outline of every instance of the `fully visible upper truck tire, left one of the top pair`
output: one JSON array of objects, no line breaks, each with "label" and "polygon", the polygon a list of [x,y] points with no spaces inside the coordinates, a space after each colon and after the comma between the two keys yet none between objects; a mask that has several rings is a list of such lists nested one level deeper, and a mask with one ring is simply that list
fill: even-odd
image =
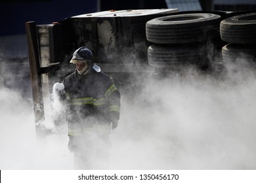
[{"label": "fully visible upper truck tire, left one of the top pair", "polygon": [[146,22],[146,39],[158,44],[202,42],[219,36],[221,16],[210,13],[175,14]]}]

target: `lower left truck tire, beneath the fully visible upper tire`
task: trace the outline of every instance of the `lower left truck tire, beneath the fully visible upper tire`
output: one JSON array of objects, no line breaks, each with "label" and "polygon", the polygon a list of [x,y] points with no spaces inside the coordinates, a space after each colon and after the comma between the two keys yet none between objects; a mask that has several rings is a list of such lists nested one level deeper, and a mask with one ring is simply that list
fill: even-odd
[{"label": "lower left truck tire, beneath the fully visible upper tire", "polygon": [[152,44],[148,47],[148,64],[152,67],[172,69],[183,66],[202,66],[206,46]]}]

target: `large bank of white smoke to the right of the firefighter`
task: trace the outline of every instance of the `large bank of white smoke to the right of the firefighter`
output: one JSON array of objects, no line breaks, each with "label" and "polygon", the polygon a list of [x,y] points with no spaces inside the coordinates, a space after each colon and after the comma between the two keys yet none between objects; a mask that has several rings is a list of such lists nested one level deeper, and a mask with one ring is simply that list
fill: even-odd
[{"label": "large bank of white smoke to the right of the firefighter", "polygon": [[252,66],[229,63],[222,80],[188,72],[142,82],[133,103],[123,96],[112,168],[255,169]]}]

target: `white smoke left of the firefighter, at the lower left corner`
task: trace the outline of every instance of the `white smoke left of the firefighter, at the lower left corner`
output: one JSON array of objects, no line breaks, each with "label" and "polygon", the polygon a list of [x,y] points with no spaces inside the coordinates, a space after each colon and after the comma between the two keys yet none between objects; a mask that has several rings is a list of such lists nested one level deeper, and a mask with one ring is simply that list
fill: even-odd
[{"label": "white smoke left of the firefighter, at the lower left corner", "polygon": [[73,169],[66,135],[35,135],[32,102],[0,88],[0,169]]}]

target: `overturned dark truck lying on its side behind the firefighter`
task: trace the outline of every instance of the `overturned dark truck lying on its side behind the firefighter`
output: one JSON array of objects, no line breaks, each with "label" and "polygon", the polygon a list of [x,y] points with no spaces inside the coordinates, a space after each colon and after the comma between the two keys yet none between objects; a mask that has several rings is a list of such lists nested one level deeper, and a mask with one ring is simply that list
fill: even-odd
[{"label": "overturned dark truck lying on its side behind the firefighter", "polygon": [[[236,22],[228,20],[233,16],[238,16]],[[216,65],[221,63],[221,52],[227,56],[228,48],[237,49],[223,46],[236,40],[232,27],[240,22],[242,27],[235,29],[249,37],[245,42],[244,36],[239,37],[239,41],[249,41],[249,51],[255,53],[255,25],[251,25],[255,19],[254,12],[179,12],[171,8],[109,10],[47,25],[26,22],[35,123],[51,116],[53,84],[73,72],[69,60],[80,46],[92,50],[96,65],[120,86],[134,74],[168,73],[183,67],[215,72],[220,68]]]}]

